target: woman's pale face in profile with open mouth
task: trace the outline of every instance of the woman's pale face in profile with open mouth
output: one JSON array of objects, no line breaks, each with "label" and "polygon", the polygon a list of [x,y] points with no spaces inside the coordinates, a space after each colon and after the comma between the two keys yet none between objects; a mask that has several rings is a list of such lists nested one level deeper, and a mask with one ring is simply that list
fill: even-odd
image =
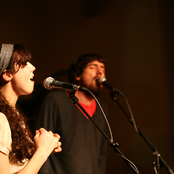
[{"label": "woman's pale face in profile with open mouth", "polygon": [[11,85],[16,95],[28,95],[31,94],[34,89],[33,72],[35,67],[27,62],[26,65],[21,65],[19,71],[13,74]]}]

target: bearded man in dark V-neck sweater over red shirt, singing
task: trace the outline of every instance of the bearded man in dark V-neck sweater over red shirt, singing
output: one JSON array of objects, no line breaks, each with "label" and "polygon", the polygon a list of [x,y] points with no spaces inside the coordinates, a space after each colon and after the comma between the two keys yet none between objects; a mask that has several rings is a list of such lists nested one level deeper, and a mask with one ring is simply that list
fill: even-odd
[{"label": "bearded man in dark V-neck sweater over red shirt, singing", "polygon": [[[72,62],[69,82],[89,89],[98,95],[103,86],[97,79],[105,77],[106,61],[97,54],[84,54]],[[80,105],[100,129],[107,125],[96,101],[88,92],[76,91]],[[105,113],[104,103],[100,101]],[[61,136],[62,152],[52,154],[40,174],[104,174],[107,140],[94,124],[75,106],[65,91],[50,92],[40,107],[36,128],[44,127]]]}]

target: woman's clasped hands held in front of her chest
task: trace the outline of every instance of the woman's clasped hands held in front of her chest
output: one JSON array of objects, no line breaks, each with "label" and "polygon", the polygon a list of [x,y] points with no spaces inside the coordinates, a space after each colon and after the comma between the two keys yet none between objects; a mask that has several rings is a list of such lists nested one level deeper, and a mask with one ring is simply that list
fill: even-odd
[{"label": "woman's clasped hands held in front of her chest", "polygon": [[53,134],[51,131],[40,128],[36,131],[34,137],[36,151],[39,151],[43,156],[48,158],[51,153],[60,152],[62,150],[59,140],[60,136],[58,134]]}]

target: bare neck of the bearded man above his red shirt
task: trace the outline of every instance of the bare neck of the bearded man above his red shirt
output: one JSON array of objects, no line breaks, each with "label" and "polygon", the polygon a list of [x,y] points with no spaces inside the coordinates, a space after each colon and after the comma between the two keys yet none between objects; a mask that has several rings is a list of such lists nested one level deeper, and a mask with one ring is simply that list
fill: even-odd
[{"label": "bare neck of the bearded man above his red shirt", "polygon": [[87,94],[82,91],[76,91],[75,96],[85,105],[92,105],[94,102],[94,98],[91,96],[91,94]]}]

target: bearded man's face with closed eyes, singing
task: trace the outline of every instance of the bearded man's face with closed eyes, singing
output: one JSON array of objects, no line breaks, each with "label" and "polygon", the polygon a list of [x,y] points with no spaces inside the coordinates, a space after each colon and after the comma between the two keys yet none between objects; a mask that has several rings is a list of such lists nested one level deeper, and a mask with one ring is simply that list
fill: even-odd
[{"label": "bearded man's face with closed eyes, singing", "polygon": [[76,77],[76,80],[79,81],[78,85],[85,87],[95,95],[98,95],[103,88],[103,85],[97,84],[97,79],[100,76],[105,77],[105,66],[103,63],[95,60],[86,65],[82,74],[79,77]]}]

